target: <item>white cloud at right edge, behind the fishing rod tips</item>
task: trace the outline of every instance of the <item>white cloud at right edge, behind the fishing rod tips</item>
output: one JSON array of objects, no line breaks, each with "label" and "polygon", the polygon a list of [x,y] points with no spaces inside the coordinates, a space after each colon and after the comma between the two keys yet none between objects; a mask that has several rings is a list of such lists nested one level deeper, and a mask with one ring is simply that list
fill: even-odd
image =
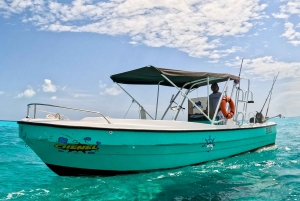
[{"label": "white cloud at right edge, behind the fishing rod tips", "polygon": [[[227,66],[239,66],[240,62],[226,63]],[[252,75],[255,79],[270,80],[279,72],[278,79],[300,78],[300,62],[277,61],[272,56],[256,59],[244,59],[243,73]]]}]

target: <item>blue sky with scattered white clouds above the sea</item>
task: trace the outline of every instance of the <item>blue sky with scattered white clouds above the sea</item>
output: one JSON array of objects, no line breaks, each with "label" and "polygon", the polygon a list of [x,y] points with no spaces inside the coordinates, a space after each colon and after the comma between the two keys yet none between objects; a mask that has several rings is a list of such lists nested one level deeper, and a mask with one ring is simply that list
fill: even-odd
[{"label": "blue sky with scattered white clouds above the sea", "polygon": [[[299,16],[299,0],[0,0],[0,119],[25,117],[31,102],[123,117],[131,100],[110,75],[147,65],[238,75],[241,58],[250,110],[279,72],[270,115],[299,116]],[[154,115],[156,86],[124,87]],[[159,114],[175,92],[161,88]]]}]

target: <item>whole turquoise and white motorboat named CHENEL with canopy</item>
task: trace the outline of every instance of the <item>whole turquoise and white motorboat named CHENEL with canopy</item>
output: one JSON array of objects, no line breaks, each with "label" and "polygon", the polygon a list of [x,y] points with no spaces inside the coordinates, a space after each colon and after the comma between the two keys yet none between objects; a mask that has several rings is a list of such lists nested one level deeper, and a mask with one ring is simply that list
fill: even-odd
[{"label": "whole turquoise and white motorboat named CHENEL with canopy", "polygon": [[[111,79],[139,106],[138,119],[111,118],[98,111],[51,104],[27,105],[26,118],[18,121],[19,137],[56,174],[111,176],[172,169],[275,144],[276,123],[265,118],[256,120],[256,115],[247,111],[248,104],[254,103],[248,78],[146,66],[112,75]],[[225,86],[217,108],[223,105],[222,113],[227,112],[227,118],[217,118],[217,110],[210,115],[209,107],[204,111],[189,97],[191,91],[205,86],[208,97],[210,85],[220,82]],[[173,87],[178,92],[171,97],[162,117],[157,118],[158,104],[152,117],[121,84],[157,85],[158,92],[160,86]],[[234,103],[230,107],[228,99]],[[186,100],[198,112],[189,114],[188,121],[179,121],[177,117]],[[85,112],[87,116],[70,120],[61,112],[41,107]],[[172,119],[165,119],[168,112],[174,113]]]}]

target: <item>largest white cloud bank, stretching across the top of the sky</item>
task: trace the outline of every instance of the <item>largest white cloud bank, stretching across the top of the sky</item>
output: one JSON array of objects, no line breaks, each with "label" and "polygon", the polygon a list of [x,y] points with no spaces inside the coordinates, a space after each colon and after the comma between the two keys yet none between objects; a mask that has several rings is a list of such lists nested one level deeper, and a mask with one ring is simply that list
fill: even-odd
[{"label": "largest white cloud bank, stretching across the top of the sky", "polygon": [[127,35],[133,45],[177,48],[193,57],[212,59],[241,50],[222,49],[221,37],[241,36],[266,17],[266,4],[258,0],[25,2],[22,6],[4,3],[2,9],[11,13],[29,9],[23,22],[41,30]]}]

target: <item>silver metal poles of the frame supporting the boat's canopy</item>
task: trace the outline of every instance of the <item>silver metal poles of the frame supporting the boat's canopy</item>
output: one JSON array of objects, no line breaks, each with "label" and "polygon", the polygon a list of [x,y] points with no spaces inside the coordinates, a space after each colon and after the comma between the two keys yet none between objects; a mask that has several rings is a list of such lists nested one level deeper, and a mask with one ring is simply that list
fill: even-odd
[{"label": "silver metal poles of the frame supporting the boat's canopy", "polygon": [[[152,66],[151,66],[151,67],[152,67]],[[155,68],[155,67],[154,67],[154,68]],[[167,69],[167,70],[168,70],[168,69]],[[171,69],[169,69],[169,70],[171,70]],[[182,72],[185,72],[185,71],[182,71]],[[128,72],[125,72],[125,73],[128,73]],[[189,72],[189,73],[190,73],[190,72]],[[209,74],[209,73],[208,73],[208,74]],[[211,74],[213,74],[213,73],[211,73]],[[122,73],[121,73],[121,74],[117,74],[117,75],[122,75]],[[228,74],[226,74],[226,75],[228,75]],[[116,75],[113,75],[113,76],[116,76]],[[113,76],[111,76],[112,79],[113,79]],[[181,86],[181,88],[180,88],[180,87],[178,87],[171,79],[169,79],[165,74],[161,73],[160,76],[162,76],[162,77],[163,77],[166,81],[168,81],[168,83],[169,83],[169,84],[164,83],[163,85],[165,85],[165,86],[173,86],[173,87],[175,87],[175,88],[178,90],[176,96],[175,96],[175,97],[174,97],[174,95],[172,96],[171,101],[170,101],[170,104],[169,104],[169,106],[167,107],[165,113],[163,114],[161,120],[164,119],[164,117],[165,117],[165,115],[167,114],[168,110],[170,109],[172,103],[173,103],[174,100],[177,98],[177,96],[179,95],[179,93],[181,93],[181,98],[182,98],[182,100],[180,100],[180,102],[177,104],[177,108],[176,108],[176,110],[175,110],[175,112],[174,112],[174,115],[173,115],[172,120],[176,120],[176,119],[177,119],[178,114],[179,114],[179,112],[180,112],[180,110],[181,110],[181,108],[182,108],[182,105],[183,105],[185,99],[188,99],[188,100],[192,103],[192,105],[193,105],[195,108],[197,108],[197,109],[199,110],[199,112],[200,112],[201,114],[203,114],[203,115],[211,122],[211,124],[215,124],[215,123],[219,123],[219,122],[224,121],[223,119],[220,120],[220,121],[215,121],[215,118],[216,118],[216,115],[217,115],[217,113],[218,113],[218,110],[215,111],[215,113],[214,113],[214,115],[213,115],[213,118],[211,119],[211,118],[209,117],[209,115],[206,115],[206,114],[204,113],[204,111],[203,111],[200,107],[198,107],[197,104],[196,104],[194,101],[191,100],[191,98],[188,97],[188,94],[189,94],[193,89],[198,88],[199,86],[204,86],[204,83],[205,83],[205,85],[207,85],[207,96],[208,96],[208,105],[209,105],[209,84],[210,84],[211,82],[216,81],[216,80],[217,80],[218,82],[226,81],[225,87],[223,88],[223,91],[222,91],[222,94],[221,94],[221,97],[223,97],[224,94],[227,95],[228,82],[229,82],[229,80],[233,79],[232,77],[228,77],[228,78],[226,77],[227,79],[224,80],[224,77],[222,77],[222,79],[214,79],[215,77],[211,77],[211,78],[210,78],[209,76],[207,76],[207,77],[204,77],[204,76],[203,76],[203,77],[200,78],[200,79],[196,79],[196,80],[188,81],[188,82],[184,83],[184,84]],[[114,80],[114,79],[113,79],[113,80]],[[158,83],[156,83],[156,84],[158,85],[158,94],[157,94],[157,103],[156,103],[155,120],[156,120],[157,107],[158,107],[159,85],[163,82],[161,79],[158,79],[158,80],[160,80],[160,81],[159,81]],[[151,80],[151,81],[152,81],[152,80]],[[119,86],[119,87],[120,87],[127,95],[129,95],[129,96],[132,98],[132,100],[133,100],[134,102],[136,102],[136,103],[139,105],[140,110],[144,110],[144,111],[146,112],[146,114],[147,114],[151,119],[154,120],[154,118],[153,118],[153,117],[152,117],[152,116],[144,109],[144,107],[143,107],[143,106],[142,106],[135,98],[133,98],[132,95],[129,94],[129,92],[127,92],[123,87],[121,87],[120,83],[118,83],[117,81],[115,81],[115,83],[116,83],[116,84],[117,84],[117,85],[118,85],[118,86]],[[130,83],[130,82],[129,82],[129,83],[126,83],[126,82],[125,82],[124,84],[138,84],[138,83],[136,83],[136,82],[134,82],[134,83]],[[141,83],[141,84],[145,84],[145,83]],[[149,84],[149,83],[147,83],[147,84]],[[153,83],[150,83],[150,84],[153,85]],[[181,83],[181,84],[182,84],[182,83]],[[188,87],[188,86],[189,86],[189,87]],[[184,88],[186,88],[186,92],[183,92],[183,91],[182,91]],[[233,86],[231,95],[233,94],[234,88],[235,88],[235,87]],[[221,100],[222,100],[222,99],[220,98],[220,100],[219,100],[219,102],[218,102],[218,105],[217,105],[217,108],[220,107]],[[210,111],[209,111],[209,107],[208,107],[208,114],[210,114],[209,112],[210,112]]]}]

